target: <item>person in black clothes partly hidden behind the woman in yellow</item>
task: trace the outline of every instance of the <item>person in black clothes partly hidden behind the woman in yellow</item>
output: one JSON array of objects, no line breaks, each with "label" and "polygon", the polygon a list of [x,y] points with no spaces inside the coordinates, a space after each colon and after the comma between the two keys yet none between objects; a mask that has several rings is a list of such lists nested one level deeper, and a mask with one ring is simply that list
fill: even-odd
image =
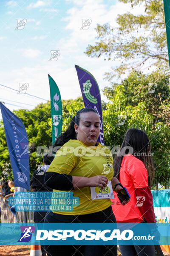
[{"label": "person in black clothes partly hidden behind the woman in yellow", "polygon": [[[43,156],[43,166],[40,169],[34,171],[33,176],[30,180],[30,186],[32,191],[35,192],[42,192],[42,191],[53,191],[50,187],[45,184],[44,177],[45,173],[50,166],[51,162],[53,161],[54,156],[48,156],[48,153],[44,154]],[[35,223],[43,223],[44,218],[47,212],[34,212],[34,222]],[[45,249],[44,246],[41,245],[42,256],[45,256]]]}]

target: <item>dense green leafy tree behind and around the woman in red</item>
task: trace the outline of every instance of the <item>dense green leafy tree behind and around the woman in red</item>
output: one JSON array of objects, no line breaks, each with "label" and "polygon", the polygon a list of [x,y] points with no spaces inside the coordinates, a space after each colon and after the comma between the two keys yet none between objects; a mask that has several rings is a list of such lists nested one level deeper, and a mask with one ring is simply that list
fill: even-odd
[{"label": "dense green leafy tree behind and around the woman in red", "polygon": [[[170,180],[170,87],[168,77],[157,83],[154,93],[148,93],[148,82],[156,74],[130,73],[121,84],[106,87],[109,99],[103,111],[105,145],[121,145],[129,128],[139,128],[147,133],[155,164],[154,184],[165,185]],[[118,115],[126,115],[124,125],[117,125]]]}]

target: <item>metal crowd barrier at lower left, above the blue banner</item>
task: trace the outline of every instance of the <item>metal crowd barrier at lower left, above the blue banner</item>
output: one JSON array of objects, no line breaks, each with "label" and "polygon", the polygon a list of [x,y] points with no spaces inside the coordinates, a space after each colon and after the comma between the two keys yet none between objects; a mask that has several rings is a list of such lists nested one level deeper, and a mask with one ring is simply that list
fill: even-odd
[{"label": "metal crowd barrier at lower left, above the blue banner", "polygon": [[2,223],[30,223],[34,222],[34,212],[16,212],[16,217],[10,211],[8,198],[0,197],[0,219]]}]

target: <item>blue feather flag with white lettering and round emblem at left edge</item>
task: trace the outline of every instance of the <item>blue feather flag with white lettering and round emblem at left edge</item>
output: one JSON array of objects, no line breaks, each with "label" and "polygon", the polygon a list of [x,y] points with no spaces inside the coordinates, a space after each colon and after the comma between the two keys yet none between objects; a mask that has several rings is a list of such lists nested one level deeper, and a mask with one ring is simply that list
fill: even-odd
[{"label": "blue feather flag with white lettering and round emblem at left edge", "polygon": [[29,189],[28,138],[23,122],[0,102],[14,185]]}]

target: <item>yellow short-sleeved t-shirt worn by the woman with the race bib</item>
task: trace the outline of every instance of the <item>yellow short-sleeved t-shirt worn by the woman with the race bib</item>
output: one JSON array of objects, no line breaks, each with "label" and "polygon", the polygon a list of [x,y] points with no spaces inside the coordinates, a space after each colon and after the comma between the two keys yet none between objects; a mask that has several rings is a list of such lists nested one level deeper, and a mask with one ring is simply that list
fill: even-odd
[{"label": "yellow short-sleeved t-shirt worn by the woman with the race bib", "polygon": [[[109,164],[105,174],[106,166]],[[113,157],[104,145],[88,147],[79,140],[69,140],[56,153],[47,172],[57,172],[72,176],[93,177],[104,175],[113,178]],[[59,190],[53,190],[59,191]],[[55,212],[65,215],[82,215],[102,211],[111,206],[110,199],[91,199],[90,187],[72,190],[74,197],[79,197],[79,205],[73,206],[72,212]]]}]

